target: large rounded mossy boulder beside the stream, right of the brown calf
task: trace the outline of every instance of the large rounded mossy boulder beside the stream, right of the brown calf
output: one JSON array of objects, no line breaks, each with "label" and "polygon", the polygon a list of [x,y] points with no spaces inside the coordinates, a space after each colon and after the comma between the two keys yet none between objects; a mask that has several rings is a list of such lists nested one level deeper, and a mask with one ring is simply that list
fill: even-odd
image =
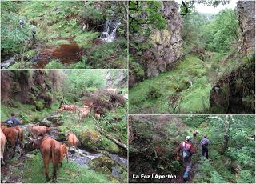
[{"label": "large rounded mossy boulder beside the stream, right of the brown calf", "polygon": [[83,130],[78,135],[82,146],[90,150],[98,150],[102,142],[102,136],[95,130]]}]

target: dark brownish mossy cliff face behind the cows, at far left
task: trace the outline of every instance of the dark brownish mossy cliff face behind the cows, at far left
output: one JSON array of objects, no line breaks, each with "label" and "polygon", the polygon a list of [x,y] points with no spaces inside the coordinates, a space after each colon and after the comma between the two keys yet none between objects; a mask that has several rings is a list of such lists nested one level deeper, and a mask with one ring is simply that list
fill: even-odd
[{"label": "dark brownish mossy cliff face behind the cows, at far left", "polygon": [[54,70],[49,75],[44,70],[2,70],[1,102],[15,107],[14,100],[34,105],[37,110],[49,108],[54,98],[52,81],[59,82],[58,76],[53,78],[54,73]]}]

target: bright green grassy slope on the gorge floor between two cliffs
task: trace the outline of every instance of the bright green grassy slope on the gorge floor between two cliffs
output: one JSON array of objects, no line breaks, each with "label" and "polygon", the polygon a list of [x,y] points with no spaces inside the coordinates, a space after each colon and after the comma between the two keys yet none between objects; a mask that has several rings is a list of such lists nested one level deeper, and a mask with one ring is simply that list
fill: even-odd
[{"label": "bright green grassy slope on the gorge floor between two cliffs", "polygon": [[[210,106],[210,90],[218,78],[242,65],[242,61],[229,58],[222,63],[225,54],[213,53],[212,58],[200,60],[186,54],[178,65],[156,78],[140,82],[129,91],[130,114],[198,114]],[[219,70],[218,74],[216,70]],[[189,80],[193,85],[190,86]],[[149,97],[150,86],[158,89],[158,98]],[[171,97],[177,97],[178,107],[168,110]]]}]

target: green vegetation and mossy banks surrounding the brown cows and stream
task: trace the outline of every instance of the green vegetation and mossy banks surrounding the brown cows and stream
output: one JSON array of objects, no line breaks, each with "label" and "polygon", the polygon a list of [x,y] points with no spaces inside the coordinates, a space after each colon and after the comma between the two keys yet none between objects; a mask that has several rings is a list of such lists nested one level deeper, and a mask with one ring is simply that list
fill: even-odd
[{"label": "green vegetation and mossy banks surrounding the brown cows and stream", "polygon": [[[47,122],[46,119],[57,116],[56,124],[47,122],[50,123],[47,126],[57,127],[58,138],[65,139],[66,133],[72,131],[80,140],[82,149],[100,150],[106,155],[118,154],[126,158],[126,149],[113,141],[115,139],[127,145],[127,102],[122,97],[127,94],[126,70],[4,70],[1,75],[1,122],[10,118],[10,113],[17,114],[22,119],[25,140],[28,139],[26,124],[46,125],[42,124]],[[3,86],[6,88],[3,89]],[[122,91],[122,95],[108,94],[105,90],[111,86]],[[51,97],[51,100],[42,98],[44,96]],[[113,97],[118,98],[116,102],[112,102]],[[92,99],[101,110],[101,118],[98,120],[94,118],[94,108],[90,117],[82,120],[78,118],[77,112],[64,111],[57,114],[62,102],[76,105],[80,109],[85,101]],[[26,162],[22,158],[24,169],[23,173],[18,174],[18,178],[22,177],[22,182],[45,182],[41,154],[38,151],[28,153],[32,156],[26,158]],[[125,168],[120,171],[118,178],[111,174],[111,168],[116,164],[114,161],[111,161],[108,169],[104,166],[110,161],[99,160],[100,166],[98,162],[94,162],[95,168],[91,169],[79,166],[74,161],[66,163],[65,160],[62,168],[58,170],[57,182],[126,182]],[[17,158],[8,159],[6,162],[6,166],[15,164]],[[8,180],[8,176],[2,176]]]}]

